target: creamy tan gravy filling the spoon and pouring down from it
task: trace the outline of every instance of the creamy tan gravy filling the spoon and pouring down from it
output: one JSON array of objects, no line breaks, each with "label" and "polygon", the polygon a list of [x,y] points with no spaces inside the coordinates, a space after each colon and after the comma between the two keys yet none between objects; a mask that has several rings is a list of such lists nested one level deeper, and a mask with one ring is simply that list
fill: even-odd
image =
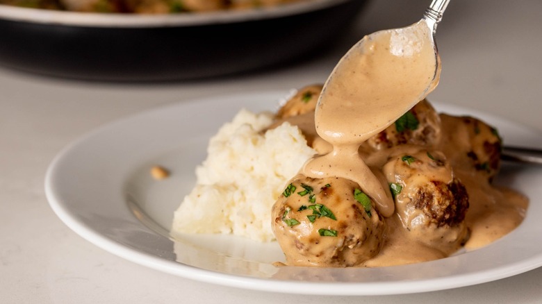
[{"label": "creamy tan gravy filling the spoon and pouring down from it", "polygon": [[439,75],[432,30],[425,22],[364,37],[331,73],[315,110],[316,131],[333,151],[307,162],[303,173],[354,180],[384,217],[391,216],[388,187],[361,160],[359,146],[424,99]]}]

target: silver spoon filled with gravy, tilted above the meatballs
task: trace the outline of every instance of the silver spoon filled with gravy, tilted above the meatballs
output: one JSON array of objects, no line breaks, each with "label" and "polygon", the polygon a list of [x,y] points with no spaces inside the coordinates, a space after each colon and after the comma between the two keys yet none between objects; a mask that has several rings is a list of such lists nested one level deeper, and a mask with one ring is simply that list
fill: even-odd
[{"label": "silver spoon filled with gravy, tilted above the meatballs", "polygon": [[[415,24],[366,35],[347,51],[318,99],[315,122],[322,139],[367,140],[434,90],[441,74],[434,36],[449,1],[433,0]],[[352,126],[360,113],[370,123]]]}]

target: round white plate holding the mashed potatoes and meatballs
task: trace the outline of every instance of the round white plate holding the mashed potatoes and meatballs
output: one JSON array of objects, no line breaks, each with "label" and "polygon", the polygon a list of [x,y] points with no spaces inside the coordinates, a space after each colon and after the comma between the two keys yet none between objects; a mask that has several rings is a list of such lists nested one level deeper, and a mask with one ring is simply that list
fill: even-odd
[{"label": "round white plate holding the mashed potatoes and meatballs", "polygon": [[[69,228],[106,251],[177,276],[269,292],[376,295],[429,292],[498,280],[542,266],[542,169],[506,166],[498,183],[531,199],[525,221],[497,242],[443,260],[375,269],[277,268],[275,243],[228,235],[167,237],[173,211],[195,183],[208,138],[242,107],[274,110],[287,92],[243,94],[158,108],[101,128],[69,145],[49,167],[47,199]],[[541,135],[504,119],[436,104],[439,111],[482,117],[505,142],[542,146]],[[172,176],[157,182],[149,168]]]}]

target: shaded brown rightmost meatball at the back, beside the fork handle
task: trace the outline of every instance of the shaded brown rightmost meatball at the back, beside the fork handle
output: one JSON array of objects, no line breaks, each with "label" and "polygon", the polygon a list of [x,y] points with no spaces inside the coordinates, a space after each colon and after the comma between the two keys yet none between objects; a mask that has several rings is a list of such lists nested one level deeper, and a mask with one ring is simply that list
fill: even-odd
[{"label": "shaded brown rightmost meatball at the back, beside the fork handle", "polygon": [[487,180],[493,180],[500,169],[502,139],[497,129],[473,117],[441,114],[442,149],[456,167],[470,168]]}]

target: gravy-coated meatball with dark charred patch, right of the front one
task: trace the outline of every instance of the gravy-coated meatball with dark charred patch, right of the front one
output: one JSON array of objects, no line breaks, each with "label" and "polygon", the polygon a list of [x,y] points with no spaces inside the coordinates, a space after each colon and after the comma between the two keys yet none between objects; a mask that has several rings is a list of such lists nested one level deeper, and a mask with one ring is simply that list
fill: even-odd
[{"label": "gravy-coated meatball with dark charred patch, right of the front one", "polygon": [[443,153],[405,145],[384,165],[384,174],[411,237],[450,252],[466,241],[468,194]]}]

